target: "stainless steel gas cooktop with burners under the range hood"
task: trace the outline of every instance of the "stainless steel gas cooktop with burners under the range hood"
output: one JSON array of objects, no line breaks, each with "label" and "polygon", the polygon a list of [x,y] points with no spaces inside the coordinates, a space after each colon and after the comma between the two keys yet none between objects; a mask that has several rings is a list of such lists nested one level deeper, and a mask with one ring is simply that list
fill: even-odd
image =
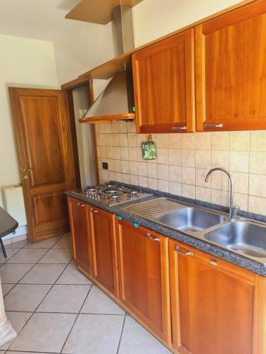
[{"label": "stainless steel gas cooktop with burners under the range hood", "polygon": [[87,197],[89,200],[99,200],[99,202],[109,206],[152,196],[151,193],[143,193],[140,188],[130,189],[109,183],[95,185],[93,187],[87,186],[72,190],[72,192]]}]

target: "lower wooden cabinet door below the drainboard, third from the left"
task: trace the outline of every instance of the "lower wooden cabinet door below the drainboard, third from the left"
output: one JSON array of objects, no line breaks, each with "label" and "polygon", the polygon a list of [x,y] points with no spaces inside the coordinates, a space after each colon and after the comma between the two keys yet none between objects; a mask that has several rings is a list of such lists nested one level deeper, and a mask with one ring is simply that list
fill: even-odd
[{"label": "lower wooden cabinet door below the drainboard, third from the left", "polygon": [[118,250],[121,302],[170,344],[167,238],[120,221]]}]

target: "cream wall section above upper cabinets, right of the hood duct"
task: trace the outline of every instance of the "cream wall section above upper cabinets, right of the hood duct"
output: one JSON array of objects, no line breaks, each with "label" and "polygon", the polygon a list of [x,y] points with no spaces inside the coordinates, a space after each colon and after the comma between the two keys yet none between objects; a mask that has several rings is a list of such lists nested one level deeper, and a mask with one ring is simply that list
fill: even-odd
[{"label": "cream wall section above upper cabinets, right of the hood duct", "polygon": [[133,7],[135,47],[239,2],[239,0],[144,0]]}]

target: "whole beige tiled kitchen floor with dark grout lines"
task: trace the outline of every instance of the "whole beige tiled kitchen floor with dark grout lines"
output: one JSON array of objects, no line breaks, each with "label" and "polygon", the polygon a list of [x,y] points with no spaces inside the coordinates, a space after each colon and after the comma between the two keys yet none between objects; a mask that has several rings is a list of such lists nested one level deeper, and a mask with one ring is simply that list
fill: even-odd
[{"label": "whole beige tiled kitchen floor with dark grout lines", "polygon": [[6,315],[18,337],[0,353],[167,354],[72,263],[70,237],[19,241],[0,255]]}]

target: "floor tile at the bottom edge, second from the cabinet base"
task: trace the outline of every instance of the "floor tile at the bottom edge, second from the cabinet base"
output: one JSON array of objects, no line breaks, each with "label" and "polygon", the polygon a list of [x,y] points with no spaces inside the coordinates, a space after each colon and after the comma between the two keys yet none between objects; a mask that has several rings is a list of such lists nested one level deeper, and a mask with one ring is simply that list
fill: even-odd
[{"label": "floor tile at the bottom edge, second from the cabinet base", "polygon": [[115,354],[123,319],[115,315],[79,314],[62,353]]}]

